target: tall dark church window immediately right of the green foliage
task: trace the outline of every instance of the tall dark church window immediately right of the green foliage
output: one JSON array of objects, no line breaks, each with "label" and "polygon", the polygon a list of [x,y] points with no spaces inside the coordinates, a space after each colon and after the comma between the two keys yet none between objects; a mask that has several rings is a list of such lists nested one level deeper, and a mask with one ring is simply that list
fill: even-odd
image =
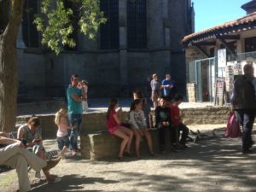
[{"label": "tall dark church window immediately right of the green foliage", "polygon": [[119,0],[101,0],[107,22],[101,25],[101,49],[119,49]]}]

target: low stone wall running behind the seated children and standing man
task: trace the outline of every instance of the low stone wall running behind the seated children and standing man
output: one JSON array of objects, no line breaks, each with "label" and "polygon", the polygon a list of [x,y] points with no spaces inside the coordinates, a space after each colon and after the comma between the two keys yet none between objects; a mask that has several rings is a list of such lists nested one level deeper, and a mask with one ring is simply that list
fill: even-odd
[{"label": "low stone wall running behind the seated children and standing man", "polygon": [[[184,108],[183,123],[186,125],[198,124],[225,124],[228,119],[229,107],[208,107],[208,108]],[[29,116],[18,116],[17,125],[26,123]],[[55,137],[57,126],[55,125],[54,114],[39,115],[44,138]],[[123,120],[127,120],[128,112],[123,113]],[[106,129],[106,113],[84,113],[82,122],[82,134]]]}]

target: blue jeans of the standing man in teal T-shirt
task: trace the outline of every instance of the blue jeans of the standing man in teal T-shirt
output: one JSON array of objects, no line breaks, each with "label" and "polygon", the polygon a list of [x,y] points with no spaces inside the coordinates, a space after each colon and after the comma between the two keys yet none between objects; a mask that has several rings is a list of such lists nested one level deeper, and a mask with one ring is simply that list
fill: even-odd
[{"label": "blue jeans of the standing man in teal T-shirt", "polygon": [[71,126],[77,125],[76,129],[71,129],[70,133],[70,149],[78,150],[78,137],[80,135],[81,123],[82,123],[82,114],[68,114],[68,120]]}]

